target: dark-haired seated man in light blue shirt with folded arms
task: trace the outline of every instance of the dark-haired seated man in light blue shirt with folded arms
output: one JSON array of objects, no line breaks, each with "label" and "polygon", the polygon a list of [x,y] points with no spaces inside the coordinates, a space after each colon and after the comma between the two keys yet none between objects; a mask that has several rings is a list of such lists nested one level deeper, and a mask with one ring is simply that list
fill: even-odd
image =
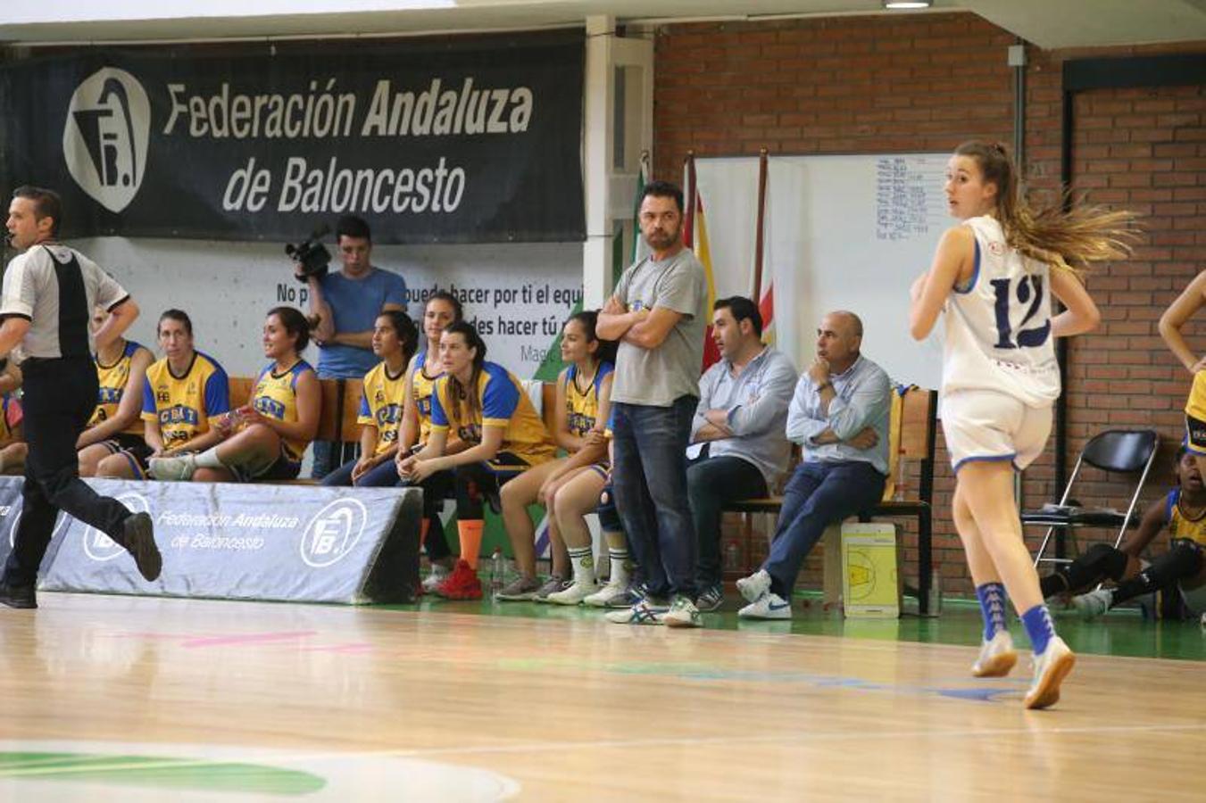
[{"label": "dark-haired seated man in light blue shirt with folded arms", "polygon": [[748,298],[718,299],[712,339],[720,362],[699,377],[699,406],[687,446],[687,494],[699,539],[696,608],[715,610],[721,585],[720,516],[726,503],[765,497],[788,469],[784,429],[796,367],[762,342],[762,315]]}]

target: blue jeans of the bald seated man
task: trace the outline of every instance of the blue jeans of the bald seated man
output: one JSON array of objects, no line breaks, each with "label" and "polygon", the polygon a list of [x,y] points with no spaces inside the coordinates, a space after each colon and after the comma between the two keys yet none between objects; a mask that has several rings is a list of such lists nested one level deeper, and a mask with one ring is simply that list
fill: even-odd
[{"label": "blue jeans of the bald seated man", "polygon": [[783,492],[779,527],[762,564],[771,591],[790,599],[800,567],[825,528],[872,510],[884,497],[886,479],[862,461],[801,463]]}]

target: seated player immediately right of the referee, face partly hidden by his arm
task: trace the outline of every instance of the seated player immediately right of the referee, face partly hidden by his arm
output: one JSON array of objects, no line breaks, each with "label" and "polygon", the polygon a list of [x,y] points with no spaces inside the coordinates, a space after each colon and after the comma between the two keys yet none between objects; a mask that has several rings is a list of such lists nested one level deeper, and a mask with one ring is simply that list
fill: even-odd
[{"label": "seated player immediately right of the referee, face partly hidden by his arm", "polygon": [[[109,311],[96,309],[93,329],[99,329],[109,317]],[[142,440],[142,385],[147,368],[154,354],[146,346],[117,338],[93,354],[96,363],[96,409],[78,440],[76,452],[80,458],[80,476],[96,474],[96,464],[122,450],[145,452]],[[146,455],[144,453],[144,459]]]}]

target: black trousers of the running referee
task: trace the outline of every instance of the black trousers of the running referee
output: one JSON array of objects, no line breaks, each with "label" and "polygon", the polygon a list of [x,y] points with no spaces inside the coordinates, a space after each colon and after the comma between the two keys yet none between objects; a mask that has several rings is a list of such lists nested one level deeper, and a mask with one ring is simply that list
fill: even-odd
[{"label": "black trousers of the running referee", "polygon": [[21,365],[25,440],[25,485],[21,524],[4,582],[29,586],[49,546],[59,510],[125,545],[125,505],[103,497],[80,479],[75,444],[96,406],[96,368],[89,357],[27,359]]}]

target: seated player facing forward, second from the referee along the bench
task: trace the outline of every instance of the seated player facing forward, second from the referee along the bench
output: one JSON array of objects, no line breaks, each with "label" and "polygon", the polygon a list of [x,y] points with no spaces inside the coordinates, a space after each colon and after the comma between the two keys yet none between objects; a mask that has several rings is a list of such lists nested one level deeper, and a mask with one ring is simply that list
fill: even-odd
[{"label": "seated player facing forward, second from the referee along the bench", "polygon": [[100,461],[96,476],[145,480],[150,457],[203,452],[222,440],[215,424],[230,411],[230,382],[212,357],[193,348],[193,322],[182,310],[159,316],[156,336],[164,356],[142,382],[144,450],[125,449]]}]

